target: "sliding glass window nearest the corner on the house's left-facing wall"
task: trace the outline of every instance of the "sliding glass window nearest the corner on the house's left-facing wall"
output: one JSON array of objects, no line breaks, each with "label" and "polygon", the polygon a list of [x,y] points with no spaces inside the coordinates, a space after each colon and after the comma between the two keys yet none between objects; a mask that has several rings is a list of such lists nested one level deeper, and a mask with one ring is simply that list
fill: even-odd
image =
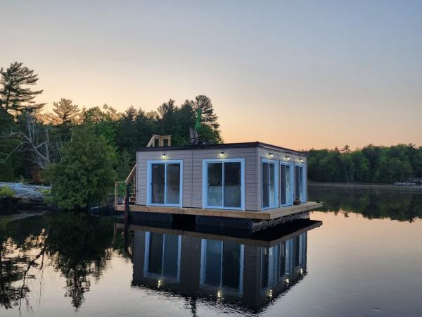
[{"label": "sliding glass window nearest the corner on the house's left-facing wall", "polygon": [[244,160],[203,161],[203,206],[215,209],[243,209]]}]

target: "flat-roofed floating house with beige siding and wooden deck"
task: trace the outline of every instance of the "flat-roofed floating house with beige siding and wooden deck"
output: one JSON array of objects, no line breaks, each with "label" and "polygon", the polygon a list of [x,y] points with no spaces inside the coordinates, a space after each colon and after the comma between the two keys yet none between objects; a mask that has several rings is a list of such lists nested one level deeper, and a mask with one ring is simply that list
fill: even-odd
[{"label": "flat-roofed floating house with beige siding and wooden deck", "polygon": [[262,142],[141,147],[126,180],[127,206],[143,220],[194,216],[198,226],[258,230],[309,215],[307,156]]}]

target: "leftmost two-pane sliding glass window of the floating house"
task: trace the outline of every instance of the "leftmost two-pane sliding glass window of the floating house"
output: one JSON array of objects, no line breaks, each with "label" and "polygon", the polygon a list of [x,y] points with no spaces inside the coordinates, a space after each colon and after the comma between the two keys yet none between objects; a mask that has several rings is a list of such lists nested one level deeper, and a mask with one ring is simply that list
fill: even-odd
[{"label": "leftmost two-pane sliding glass window of the floating house", "polygon": [[148,162],[148,205],[181,206],[181,161]]}]

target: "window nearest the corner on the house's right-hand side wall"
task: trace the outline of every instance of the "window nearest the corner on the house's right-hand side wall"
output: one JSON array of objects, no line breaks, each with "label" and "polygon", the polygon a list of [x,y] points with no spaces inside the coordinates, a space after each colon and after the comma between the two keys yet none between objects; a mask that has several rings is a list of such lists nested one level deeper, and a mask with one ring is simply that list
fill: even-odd
[{"label": "window nearest the corner on the house's right-hand side wall", "polygon": [[276,161],[262,159],[262,209],[277,206],[277,164]]}]

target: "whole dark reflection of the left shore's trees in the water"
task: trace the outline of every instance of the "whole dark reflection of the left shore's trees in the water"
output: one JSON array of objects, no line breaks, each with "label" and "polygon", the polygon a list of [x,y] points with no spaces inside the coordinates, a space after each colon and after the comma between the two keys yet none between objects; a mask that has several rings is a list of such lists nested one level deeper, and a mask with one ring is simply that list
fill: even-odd
[{"label": "whole dark reflection of the left shore's trees in the water", "polygon": [[25,305],[32,311],[28,282],[41,272],[41,290],[42,270],[51,264],[66,279],[65,296],[79,308],[91,286],[91,276],[98,280],[106,268],[112,240],[110,218],[82,213],[15,221],[0,218],[0,307],[21,309]]}]

